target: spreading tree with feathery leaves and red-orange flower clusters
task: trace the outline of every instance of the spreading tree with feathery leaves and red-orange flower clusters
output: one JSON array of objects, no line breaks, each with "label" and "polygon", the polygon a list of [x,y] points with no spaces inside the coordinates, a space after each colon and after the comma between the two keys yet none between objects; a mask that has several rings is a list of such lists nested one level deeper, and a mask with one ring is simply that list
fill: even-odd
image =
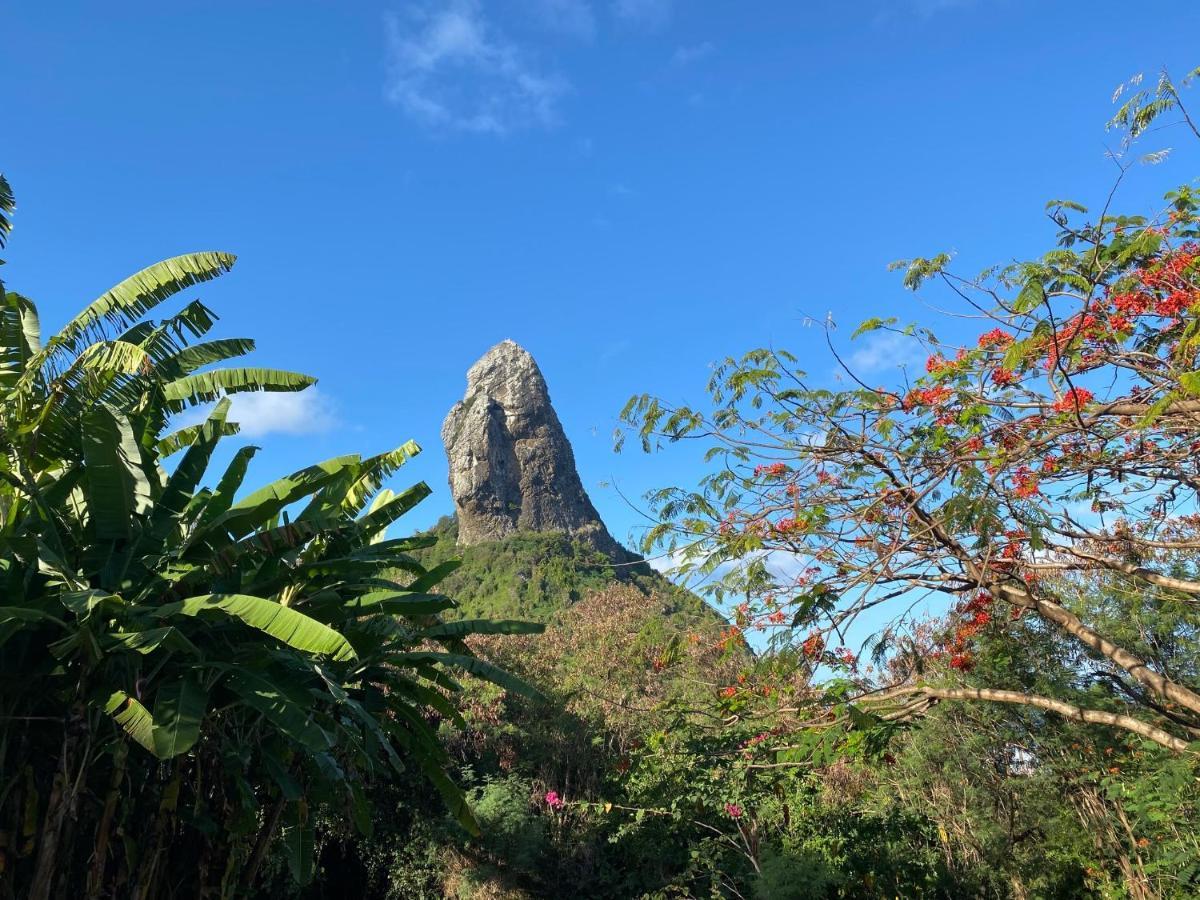
[{"label": "spreading tree with feathery leaves and red-orange flower clusters", "polygon": [[[1200,137],[1165,76],[1114,125],[1136,138],[1164,114]],[[856,714],[1016,703],[1183,751],[1200,737],[1198,673],[1088,613],[1103,594],[1118,617],[1169,611],[1175,640],[1200,623],[1200,194],[1181,187],[1151,216],[1048,210],[1057,241],[1039,259],[971,278],[946,254],[899,264],[908,288],[941,283],[983,322],[958,341],[894,319],[858,329],[924,347],[911,384],[847,368],[854,386],[826,390],[794,356],[755,350],[716,368],[712,410],[631,400],[623,418],[643,446],[707,439],[720,463],[698,490],[652,496],[647,547],[684,569],[734,563],[719,592],[744,595],[738,626],[839,670]],[[917,617],[930,595],[948,599],[946,628]],[[965,684],[979,635],[1024,616],[1078,641],[1112,702]],[[856,619],[883,623],[874,666],[830,649]],[[796,710],[828,720],[828,692],[808,700]]]}]

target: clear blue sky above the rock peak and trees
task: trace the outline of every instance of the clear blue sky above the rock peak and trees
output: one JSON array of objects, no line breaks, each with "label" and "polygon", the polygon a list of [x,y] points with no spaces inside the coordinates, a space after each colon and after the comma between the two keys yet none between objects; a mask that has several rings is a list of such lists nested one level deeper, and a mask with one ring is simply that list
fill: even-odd
[{"label": "clear blue sky above the rock peak and trees", "polygon": [[[258,481],[412,437],[436,493],[410,528],[450,510],[442,419],[511,337],[626,538],[601,482],[700,472],[613,455],[631,394],[697,402],[763,344],[829,372],[805,316],[840,342],[935,319],[888,262],[1042,252],[1046,199],[1108,191],[1112,89],[1200,64],[1198,25],[1156,0],[4,4],[5,278],[53,326],[157,259],[238,253],[186,296],[320,379],[241,404]],[[1195,160],[1138,167],[1120,205]],[[877,378],[902,355],[851,350]]]}]

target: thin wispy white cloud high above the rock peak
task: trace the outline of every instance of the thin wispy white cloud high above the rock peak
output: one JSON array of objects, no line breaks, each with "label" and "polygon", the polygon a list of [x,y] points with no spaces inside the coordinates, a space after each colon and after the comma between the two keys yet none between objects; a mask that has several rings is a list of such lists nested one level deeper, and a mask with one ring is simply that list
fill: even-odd
[{"label": "thin wispy white cloud high above the rock peak", "polygon": [[548,126],[569,84],[535,70],[479,0],[385,13],[388,100],[427,125],[491,134]]}]

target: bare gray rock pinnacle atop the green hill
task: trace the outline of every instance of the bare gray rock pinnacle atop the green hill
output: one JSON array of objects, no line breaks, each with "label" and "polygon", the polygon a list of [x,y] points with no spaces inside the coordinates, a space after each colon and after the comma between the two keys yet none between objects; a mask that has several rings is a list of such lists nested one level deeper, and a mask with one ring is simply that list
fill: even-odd
[{"label": "bare gray rock pinnacle atop the green hill", "polygon": [[446,415],[442,443],[460,544],[517,530],[566,532],[614,559],[630,556],[583,490],[538,364],[512,341],[496,344],[467,372],[467,394]]}]

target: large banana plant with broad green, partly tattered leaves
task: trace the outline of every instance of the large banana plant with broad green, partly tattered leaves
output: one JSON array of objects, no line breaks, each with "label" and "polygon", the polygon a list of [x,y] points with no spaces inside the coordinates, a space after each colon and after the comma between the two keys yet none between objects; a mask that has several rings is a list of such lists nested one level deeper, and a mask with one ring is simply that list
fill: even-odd
[{"label": "large banana plant with broad green, partly tattered leaves", "polygon": [[[0,247],[12,212],[0,176]],[[415,444],[212,469],[229,395],[314,380],[228,365],[254,344],[198,300],[150,318],[234,262],[151,265],[44,341],[0,282],[0,896],[245,895],[275,852],[304,882],[312,811],[370,829],[364,786],[409,767],[475,830],[437,722],[457,677],[530,692],[466,638],[540,626],[443,620],[452,565],[388,536]]]}]

